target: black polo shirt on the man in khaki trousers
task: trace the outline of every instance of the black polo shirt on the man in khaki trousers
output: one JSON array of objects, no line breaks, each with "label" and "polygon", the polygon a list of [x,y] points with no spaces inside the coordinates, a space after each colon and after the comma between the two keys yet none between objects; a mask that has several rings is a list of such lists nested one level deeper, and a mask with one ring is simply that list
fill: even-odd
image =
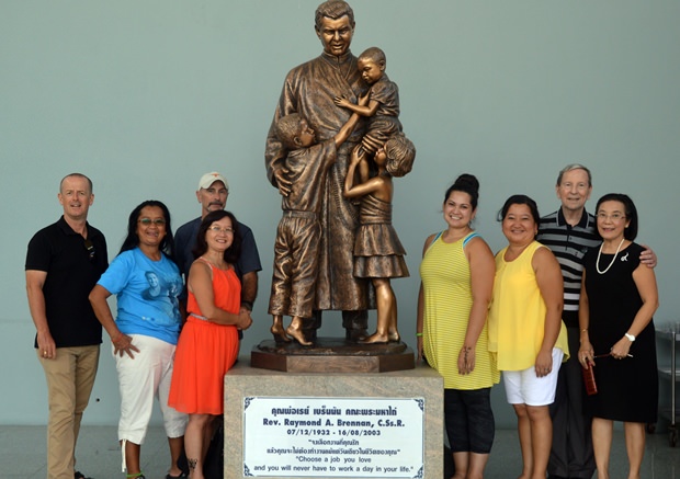
[{"label": "black polo shirt on the man in khaki trousers", "polygon": [[64,216],[29,242],[25,269],[47,273],[43,285],[45,311],[57,347],[102,342],[102,327],[88,296],[109,266],[109,255],[104,235],[89,224],[87,228],[93,251],[88,251],[86,240],[68,226]]}]

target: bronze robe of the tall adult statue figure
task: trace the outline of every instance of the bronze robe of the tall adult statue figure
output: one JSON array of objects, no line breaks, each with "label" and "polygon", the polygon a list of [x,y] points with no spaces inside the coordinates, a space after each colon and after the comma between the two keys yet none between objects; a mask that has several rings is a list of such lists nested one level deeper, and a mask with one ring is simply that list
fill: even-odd
[{"label": "bronze robe of the tall adult statue figure", "polygon": [[[273,172],[282,167],[286,151],[276,138],[275,124],[282,116],[299,113],[321,142],[332,138],[347,123],[352,112],[337,106],[336,96],[352,103],[367,90],[362,80],[356,58],[348,52],[341,57],[328,55],[309,60],[291,70],[285,79],[272,126],[267,137],[264,162],[267,174],[276,185]],[[354,233],[359,225],[355,202],[342,196],[352,148],[363,136],[361,121],[352,136],[338,149],[336,163],[330,167],[321,204],[321,241],[316,287],[316,307],[319,310],[356,311],[374,307],[366,280],[353,276]]]}]

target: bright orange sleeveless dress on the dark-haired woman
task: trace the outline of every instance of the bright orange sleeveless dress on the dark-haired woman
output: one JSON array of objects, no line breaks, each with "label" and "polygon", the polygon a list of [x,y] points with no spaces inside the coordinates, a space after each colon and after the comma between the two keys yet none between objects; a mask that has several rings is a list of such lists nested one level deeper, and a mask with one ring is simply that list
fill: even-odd
[{"label": "bright orange sleeveless dress on the dark-haired woman", "polygon": [[[201,261],[201,260],[199,260]],[[215,306],[238,313],[241,284],[234,269],[213,267]],[[224,412],[224,376],[238,355],[238,331],[231,324],[216,324],[200,319],[195,296],[189,292],[186,322],[174,354],[168,404],[189,414]]]}]

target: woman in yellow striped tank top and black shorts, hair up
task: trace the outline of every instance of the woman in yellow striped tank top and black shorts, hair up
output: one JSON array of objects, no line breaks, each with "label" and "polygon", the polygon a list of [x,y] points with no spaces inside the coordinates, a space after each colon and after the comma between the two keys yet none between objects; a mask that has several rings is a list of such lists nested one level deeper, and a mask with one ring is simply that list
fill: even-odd
[{"label": "woman in yellow striped tank top and black shorts, hair up", "polygon": [[487,347],[494,255],[471,227],[479,183],[462,174],[444,195],[447,228],[424,243],[418,296],[418,355],[444,377],[444,417],[456,479],[481,478],[494,443]]}]

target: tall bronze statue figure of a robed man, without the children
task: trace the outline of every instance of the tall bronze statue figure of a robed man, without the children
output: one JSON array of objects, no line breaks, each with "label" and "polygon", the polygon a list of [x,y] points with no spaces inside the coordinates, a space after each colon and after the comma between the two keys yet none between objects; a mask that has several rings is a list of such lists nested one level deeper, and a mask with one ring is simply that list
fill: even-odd
[{"label": "tall bronze statue figure of a robed man, without the children", "polygon": [[[354,34],[354,13],[341,0],[321,3],[316,11],[315,30],[324,52],[293,68],[283,85],[272,126],[267,138],[265,167],[268,178],[285,196],[291,181],[285,175],[286,148],[276,137],[279,119],[299,113],[315,132],[317,140],[332,138],[350,118],[351,112],[335,104],[336,98],[356,103],[367,91],[358,68],[356,57],[350,52]],[[365,278],[353,275],[354,235],[358,227],[358,206],[342,196],[344,178],[352,149],[361,141],[360,123],[347,141],[337,149],[336,162],[328,169],[321,197],[316,299],[313,318],[299,322],[297,337],[305,342],[316,339],[322,310],[341,310],[345,338],[358,341],[365,338],[366,309],[371,308],[370,285]],[[279,331],[279,329],[276,329]]]}]

